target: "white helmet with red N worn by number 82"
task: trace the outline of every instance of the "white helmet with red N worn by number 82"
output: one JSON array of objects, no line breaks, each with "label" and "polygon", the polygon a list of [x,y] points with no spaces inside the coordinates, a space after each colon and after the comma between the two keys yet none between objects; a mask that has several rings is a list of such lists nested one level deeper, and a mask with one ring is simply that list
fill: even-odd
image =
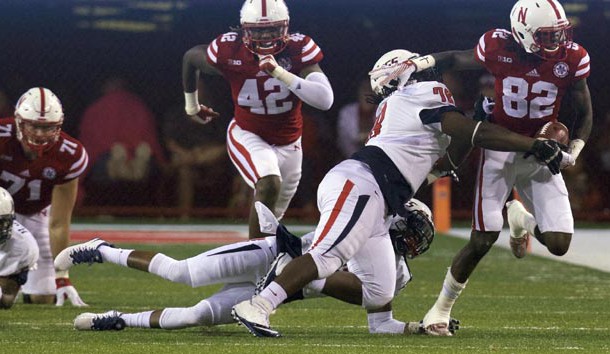
[{"label": "white helmet with red N worn by number 82", "polygon": [[519,0],[510,12],[511,32],[528,53],[563,60],[572,42],[572,26],[557,0]]}]

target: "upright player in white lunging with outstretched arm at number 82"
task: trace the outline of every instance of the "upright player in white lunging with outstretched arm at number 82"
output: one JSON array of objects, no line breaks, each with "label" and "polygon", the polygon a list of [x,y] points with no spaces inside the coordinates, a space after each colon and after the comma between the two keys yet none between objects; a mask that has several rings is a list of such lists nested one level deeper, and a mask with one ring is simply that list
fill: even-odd
[{"label": "upright player in white lunging with outstretched arm at number 82", "polygon": [[[388,276],[393,273],[393,250],[386,220],[390,215],[404,214],[405,202],[426,180],[452,138],[457,140],[456,146],[466,142],[526,152],[552,171],[559,169],[562,154],[557,142],[536,140],[464,117],[443,83],[424,81],[429,79],[425,72],[410,78],[401,62],[415,57],[418,54],[394,50],[375,63],[371,86],[382,99],[377,120],[366,146],[331,169],[320,183],[321,216],[312,246],[260,294],[233,307],[234,318],[252,334],[279,336],[269,326],[271,312],[309,282],[333,274],[370,241],[377,257],[367,261],[374,275],[385,281],[378,284],[374,301],[367,301],[363,294],[363,306],[372,311],[386,306],[395,290],[395,279]],[[461,159],[449,156],[455,163]]]}]

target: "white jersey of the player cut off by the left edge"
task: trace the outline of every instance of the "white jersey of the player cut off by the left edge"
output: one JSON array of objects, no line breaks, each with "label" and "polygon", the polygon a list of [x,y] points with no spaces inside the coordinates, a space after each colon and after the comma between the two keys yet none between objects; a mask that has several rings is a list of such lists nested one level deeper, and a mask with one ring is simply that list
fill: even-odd
[{"label": "white jersey of the player cut off by the left edge", "polygon": [[0,245],[0,277],[33,268],[38,261],[38,245],[34,236],[20,223],[13,221],[11,238]]}]

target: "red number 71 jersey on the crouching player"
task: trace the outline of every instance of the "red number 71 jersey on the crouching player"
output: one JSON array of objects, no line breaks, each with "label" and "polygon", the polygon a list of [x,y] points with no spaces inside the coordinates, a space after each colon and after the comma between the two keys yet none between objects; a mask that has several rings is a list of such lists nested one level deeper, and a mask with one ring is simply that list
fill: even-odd
[{"label": "red number 71 jersey on the crouching player", "polygon": [[15,119],[0,119],[0,186],[13,196],[19,214],[49,206],[53,187],[79,177],[88,161],[80,141],[63,131],[55,145],[30,160],[17,140]]}]

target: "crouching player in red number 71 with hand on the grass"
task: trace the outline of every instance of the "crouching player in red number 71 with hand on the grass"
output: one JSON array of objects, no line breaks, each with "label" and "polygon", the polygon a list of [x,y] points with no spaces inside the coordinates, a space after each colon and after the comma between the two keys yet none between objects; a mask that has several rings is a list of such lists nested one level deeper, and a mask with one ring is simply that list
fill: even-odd
[{"label": "crouching player in red number 71 with hand on the grass", "polygon": [[68,247],[78,177],[87,167],[83,145],[61,130],[61,102],[49,89],[25,92],[14,118],[0,119],[0,187],[15,201],[16,220],[34,235],[38,268],[23,285],[24,300],[86,306],[53,258]]}]

